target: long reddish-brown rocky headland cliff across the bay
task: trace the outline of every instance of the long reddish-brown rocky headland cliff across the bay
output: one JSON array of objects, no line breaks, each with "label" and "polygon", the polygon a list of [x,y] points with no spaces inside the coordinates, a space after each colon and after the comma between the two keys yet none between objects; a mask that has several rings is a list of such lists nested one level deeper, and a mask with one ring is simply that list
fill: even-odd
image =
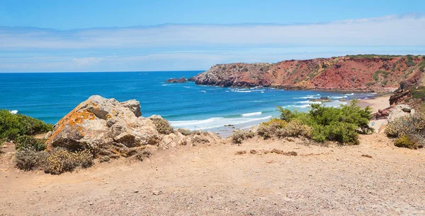
[{"label": "long reddish-brown rocky headland cliff across the bay", "polygon": [[421,77],[423,56],[343,56],[277,64],[220,64],[192,78],[199,85],[315,90],[395,90]]}]

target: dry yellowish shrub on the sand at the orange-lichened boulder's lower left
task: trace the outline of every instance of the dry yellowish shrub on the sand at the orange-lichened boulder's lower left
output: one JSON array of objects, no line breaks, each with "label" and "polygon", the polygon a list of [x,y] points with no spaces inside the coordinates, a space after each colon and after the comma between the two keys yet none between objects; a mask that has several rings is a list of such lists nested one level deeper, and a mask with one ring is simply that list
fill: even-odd
[{"label": "dry yellowish shrub on the sand at the orange-lichened boulder's lower left", "polygon": [[69,152],[64,148],[55,148],[47,157],[45,172],[62,174],[72,172],[77,167],[87,168],[93,164],[93,155],[89,150]]}]

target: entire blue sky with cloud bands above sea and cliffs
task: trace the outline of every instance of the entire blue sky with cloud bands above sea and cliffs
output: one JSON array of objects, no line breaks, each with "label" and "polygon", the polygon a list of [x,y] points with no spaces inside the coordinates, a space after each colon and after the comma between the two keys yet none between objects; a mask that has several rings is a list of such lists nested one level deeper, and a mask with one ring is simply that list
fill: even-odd
[{"label": "entire blue sky with cloud bands above sea and cliffs", "polygon": [[0,73],[425,54],[425,1],[0,0]]}]

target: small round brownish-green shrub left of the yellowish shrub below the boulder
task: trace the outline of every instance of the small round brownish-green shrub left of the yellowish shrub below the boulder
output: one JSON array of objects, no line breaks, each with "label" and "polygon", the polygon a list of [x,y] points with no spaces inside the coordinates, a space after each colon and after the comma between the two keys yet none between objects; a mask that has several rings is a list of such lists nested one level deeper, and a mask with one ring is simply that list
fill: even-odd
[{"label": "small round brownish-green shrub left of the yellowish shrub below the boulder", "polygon": [[45,167],[48,153],[33,148],[23,148],[16,152],[16,167],[23,170],[33,170]]}]

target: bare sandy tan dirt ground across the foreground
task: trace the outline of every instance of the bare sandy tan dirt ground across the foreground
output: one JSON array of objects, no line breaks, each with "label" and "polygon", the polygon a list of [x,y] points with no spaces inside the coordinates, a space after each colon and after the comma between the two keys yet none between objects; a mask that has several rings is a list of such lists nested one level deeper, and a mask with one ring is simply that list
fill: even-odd
[{"label": "bare sandy tan dirt ground across the foreground", "polygon": [[[424,149],[383,134],[305,143],[181,146],[60,176],[19,171],[3,153],[0,215],[425,215]],[[275,148],[297,156],[263,153]]]}]

